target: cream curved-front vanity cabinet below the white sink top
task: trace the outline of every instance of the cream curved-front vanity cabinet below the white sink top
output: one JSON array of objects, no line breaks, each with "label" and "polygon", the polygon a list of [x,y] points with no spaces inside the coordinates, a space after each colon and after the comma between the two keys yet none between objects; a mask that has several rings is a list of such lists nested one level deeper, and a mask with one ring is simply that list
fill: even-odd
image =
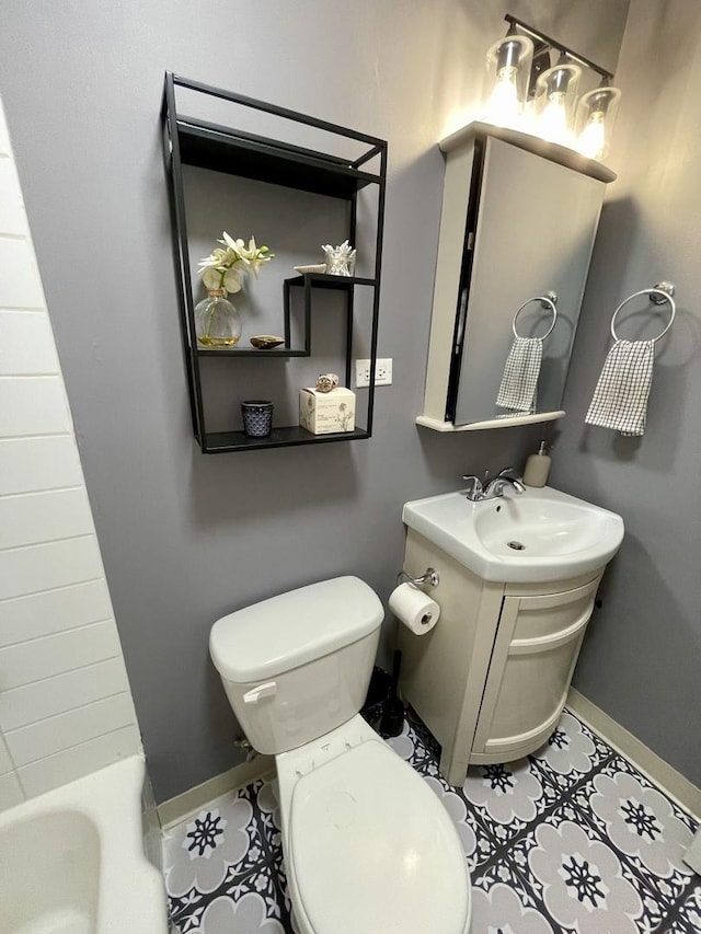
[{"label": "cream curved-front vanity cabinet below the white sink top", "polygon": [[399,626],[400,692],[440,742],[441,773],[461,785],[468,765],[520,759],[552,733],[604,568],[549,584],[485,581],[407,529],[404,569],[428,566],[440,619],[422,636]]}]

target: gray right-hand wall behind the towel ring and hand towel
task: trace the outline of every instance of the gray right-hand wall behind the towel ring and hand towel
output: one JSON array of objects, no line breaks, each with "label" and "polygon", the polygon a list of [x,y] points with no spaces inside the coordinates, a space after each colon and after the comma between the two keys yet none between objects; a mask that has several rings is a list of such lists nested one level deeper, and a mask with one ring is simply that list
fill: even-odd
[{"label": "gray right-hand wall behind the towel ring and hand towel", "polygon": [[[625,539],[600,591],[604,607],[594,615],[575,687],[697,785],[700,43],[699,4],[631,3],[617,73],[624,97],[610,159],[619,181],[610,187],[599,227],[552,473],[555,486],[625,520]],[[677,319],[656,347],[645,435],[633,439],[586,428],[586,407],[610,345],[610,316],[628,295],[660,279],[677,285]],[[660,311],[636,314],[619,333],[653,336],[666,320],[666,309]]]}]

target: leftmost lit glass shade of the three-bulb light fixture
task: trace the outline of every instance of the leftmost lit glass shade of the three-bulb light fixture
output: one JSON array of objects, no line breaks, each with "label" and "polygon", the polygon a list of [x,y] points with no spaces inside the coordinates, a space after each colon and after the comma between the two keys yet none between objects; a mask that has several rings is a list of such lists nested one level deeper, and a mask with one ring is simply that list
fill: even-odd
[{"label": "leftmost lit glass shade of the three-bulb light fixture", "polygon": [[486,54],[483,119],[520,128],[532,60],[533,44],[528,36],[505,36],[492,46]]}]

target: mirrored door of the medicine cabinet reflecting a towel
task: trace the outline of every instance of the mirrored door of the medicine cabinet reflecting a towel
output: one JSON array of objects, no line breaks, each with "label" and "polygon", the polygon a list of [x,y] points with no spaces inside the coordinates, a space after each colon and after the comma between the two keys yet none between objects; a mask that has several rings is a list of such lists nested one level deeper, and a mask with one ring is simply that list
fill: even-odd
[{"label": "mirrored door of the medicine cabinet reflecting a towel", "polygon": [[[479,171],[475,169],[475,171]],[[543,344],[538,412],[559,410],[604,199],[604,182],[504,140],[487,138],[474,255],[466,254],[468,296],[457,382],[449,389],[455,424],[504,415],[496,396],[514,339],[512,321],[529,298],[558,295],[558,324]],[[552,322],[539,303],[519,315],[519,334],[542,336]],[[450,404],[448,411],[450,410]]]}]

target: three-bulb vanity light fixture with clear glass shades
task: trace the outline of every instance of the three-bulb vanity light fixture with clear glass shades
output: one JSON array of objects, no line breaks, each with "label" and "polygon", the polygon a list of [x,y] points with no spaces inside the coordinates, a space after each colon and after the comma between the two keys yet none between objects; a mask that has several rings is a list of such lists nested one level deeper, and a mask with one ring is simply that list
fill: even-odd
[{"label": "three-bulb vanity light fixture with clear glass shades", "polygon": [[[508,32],[487,53],[483,119],[604,159],[621,100],[613,74],[509,13],[504,19]],[[553,51],[560,53],[555,65]],[[600,84],[577,100],[585,70]]]}]

